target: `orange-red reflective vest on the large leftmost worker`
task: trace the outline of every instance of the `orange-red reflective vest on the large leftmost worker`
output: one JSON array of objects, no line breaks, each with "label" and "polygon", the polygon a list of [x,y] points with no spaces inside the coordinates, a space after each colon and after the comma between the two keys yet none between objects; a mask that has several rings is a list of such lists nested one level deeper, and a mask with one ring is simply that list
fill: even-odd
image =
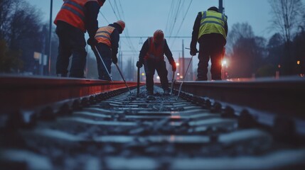
[{"label": "orange-red reflective vest on the large leftmost worker", "polygon": [[89,1],[98,3],[97,0],[64,0],[54,23],[57,25],[57,21],[64,21],[75,28],[80,28],[85,33],[85,4]]}]

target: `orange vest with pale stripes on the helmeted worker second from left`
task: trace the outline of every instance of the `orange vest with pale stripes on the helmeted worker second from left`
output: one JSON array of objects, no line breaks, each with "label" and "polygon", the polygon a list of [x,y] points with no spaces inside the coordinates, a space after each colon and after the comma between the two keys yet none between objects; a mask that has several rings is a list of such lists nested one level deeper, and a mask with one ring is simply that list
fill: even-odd
[{"label": "orange vest with pale stripes on the helmeted worker second from left", "polygon": [[112,34],[113,30],[115,28],[112,26],[105,26],[101,27],[97,30],[97,33],[95,34],[95,39],[97,42],[104,43],[105,45],[108,45],[111,48],[111,38],[110,35]]}]

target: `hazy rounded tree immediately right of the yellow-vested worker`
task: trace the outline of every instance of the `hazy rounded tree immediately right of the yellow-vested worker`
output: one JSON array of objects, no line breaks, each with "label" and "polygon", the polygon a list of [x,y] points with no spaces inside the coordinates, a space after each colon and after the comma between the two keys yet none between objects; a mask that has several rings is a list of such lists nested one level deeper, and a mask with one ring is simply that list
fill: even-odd
[{"label": "hazy rounded tree immediately right of the yellow-vested worker", "polygon": [[248,23],[235,23],[228,40],[230,77],[252,77],[267,56],[266,40],[256,37]]}]

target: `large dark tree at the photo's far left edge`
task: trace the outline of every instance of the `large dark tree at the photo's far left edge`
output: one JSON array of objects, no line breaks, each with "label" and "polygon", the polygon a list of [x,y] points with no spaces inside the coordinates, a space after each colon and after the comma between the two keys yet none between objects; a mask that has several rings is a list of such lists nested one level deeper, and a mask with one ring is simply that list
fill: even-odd
[{"label": "large dark tree at the photo's far left edge", "polygon": [[[0,0],[0,40],[4,40],[10,54],[20,54],[16,56],[23,60],[21,71],[33,72],[36,68],[33,52],[41,52],[43,46],[41,37],[44,33],[41,25],[41,12],[25,0]],[[0,62],[2,60],[4,58],[1,58]],[[16,69],[11,70],[14,72]]]}]

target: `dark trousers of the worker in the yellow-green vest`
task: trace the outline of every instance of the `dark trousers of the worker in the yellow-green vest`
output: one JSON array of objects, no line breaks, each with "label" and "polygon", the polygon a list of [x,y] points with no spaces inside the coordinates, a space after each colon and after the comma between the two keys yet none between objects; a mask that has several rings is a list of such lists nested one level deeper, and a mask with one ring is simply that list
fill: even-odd
[{"label": "dark trousers of the worker in the yellow-green vest", "polygon": [[199,42],[199,63],[197,78],[201,81],[208,80],[208,62],[211,60],[210,73],[213,80],[221,80],[221,61],[223,60],[223,35],[203,35]]}]

